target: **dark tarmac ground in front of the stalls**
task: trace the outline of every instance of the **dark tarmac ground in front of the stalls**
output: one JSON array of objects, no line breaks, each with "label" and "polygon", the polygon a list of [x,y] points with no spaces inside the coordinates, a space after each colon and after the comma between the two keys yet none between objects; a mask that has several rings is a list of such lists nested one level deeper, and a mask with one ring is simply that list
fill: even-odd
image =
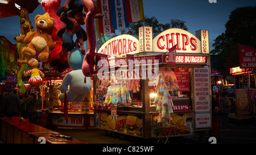
[{"label": "dark tarmac ground in front of the stalls", "polygon": [[[117,132],[105,131],[100,128],[86,129],[65,129],[50,128],[63,135],[72,136],[75,139],[85,141],[89,144],[156,144],[158,138],[142,139],[124,135]],[[212,131],[195,132],[192,136],[169,137],[170,144],[210,144],[212,141]],[[217,144],[255,144],[256,143],[256,119],[239,120],[229,119],[229,128],[221,128],[220,137],[216,137]],[[166,140],[166,139],[164,139]],[[159,141],[159,144],[163,144]],[[168,144],[168,143],[167,143]]]}]

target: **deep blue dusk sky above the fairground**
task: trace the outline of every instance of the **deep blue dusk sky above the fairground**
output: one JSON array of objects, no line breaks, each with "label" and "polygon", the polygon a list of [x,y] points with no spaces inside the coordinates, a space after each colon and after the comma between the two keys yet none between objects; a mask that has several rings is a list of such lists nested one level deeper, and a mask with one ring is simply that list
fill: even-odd
[{"label": "deep blue dusk sky above the fairground", "polygon": [[[196,30],[209,30],[210,50],[218,35],[225,32],[225,23],[229,20],[230,12],[237,7],[256,6],[255,0],[143,0],[144,15],[149,18],[155,16],[159,23],[169,23],[170,19],[185,21],[188,32],[195,35]],[[65,1],[62,1],[63,4]],[[44,14],[43,7],[39,5],[29,14],[35,27],[35,16]],[[255,17],[256,18],[256,17]],[[0,18],[0,36],[5,36],[15,44],[15,36],[20,34],[19,17],[11,16]]]}]

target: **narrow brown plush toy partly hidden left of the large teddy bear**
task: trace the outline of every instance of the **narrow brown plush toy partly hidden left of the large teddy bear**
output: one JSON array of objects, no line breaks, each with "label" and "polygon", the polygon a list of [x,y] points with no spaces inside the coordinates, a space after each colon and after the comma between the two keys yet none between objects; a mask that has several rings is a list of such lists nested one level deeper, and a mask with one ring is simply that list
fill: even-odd
[{"label": "narrow brown plush toy partly hidden left of the large teddy bear", "polygon": [[24,56],[22,55],[22,50],[23,48],[27,47],[27,44],[24,42],[24,39],[27,35],[30,35],[32,33],[32,30],[30,28],[30,23],[27,22],[26,19],[22,18],[22,26],[21,26],[21,32],[19,36],[14,37],[14,40],[17,41],[17,43],[20,43],[20,47],[18,48],[18,53],[19,53],[19,59],[17,62],[19,64],[26,64],[29,58],[25,59]]}]

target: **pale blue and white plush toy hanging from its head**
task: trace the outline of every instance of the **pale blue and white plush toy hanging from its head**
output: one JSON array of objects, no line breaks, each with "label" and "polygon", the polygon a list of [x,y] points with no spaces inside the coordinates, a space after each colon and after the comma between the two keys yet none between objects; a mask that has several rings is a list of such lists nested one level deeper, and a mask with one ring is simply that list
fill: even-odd
[{"label": "pale blue and white plush toy hanging from its head", "polygon": [[[57,89],[61,91],[58,96],[61,102],[64,102],[64,94],[67,93],[67,102],[81,102],[84,100],[87,93],[92,89],[90,77],[86,77],[86,83],[84,83],[84,74],[82,73],[82,61],[84,55],[82,55],[79,48],[74,48],[68,55],[68,64],[72,68],[72,72],[69,72],[63,79],[63,82]],[[69,89],[67,91],[69,85]]]}]

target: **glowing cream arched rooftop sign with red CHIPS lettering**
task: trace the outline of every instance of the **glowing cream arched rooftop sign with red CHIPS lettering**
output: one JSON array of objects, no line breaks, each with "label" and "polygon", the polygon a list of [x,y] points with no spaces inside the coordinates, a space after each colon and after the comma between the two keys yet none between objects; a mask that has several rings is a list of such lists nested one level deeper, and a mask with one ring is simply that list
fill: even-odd
[{"label": "glowing cream arched rooftop sign with red CHIPS lettering", "polygon": [[[139,28],[139,40],[131,35],[119,35],[106,41],[97,53],[125,56],[141,52],[167,52],[177,44],[178,53],[209,53],[209,32],[199,30],[200,39],[180,28],[170,28],[152,39],[152,27]],[[193,62],[192,62],[193,63]],[[197,61],[195,61],[197,63]]]}]

